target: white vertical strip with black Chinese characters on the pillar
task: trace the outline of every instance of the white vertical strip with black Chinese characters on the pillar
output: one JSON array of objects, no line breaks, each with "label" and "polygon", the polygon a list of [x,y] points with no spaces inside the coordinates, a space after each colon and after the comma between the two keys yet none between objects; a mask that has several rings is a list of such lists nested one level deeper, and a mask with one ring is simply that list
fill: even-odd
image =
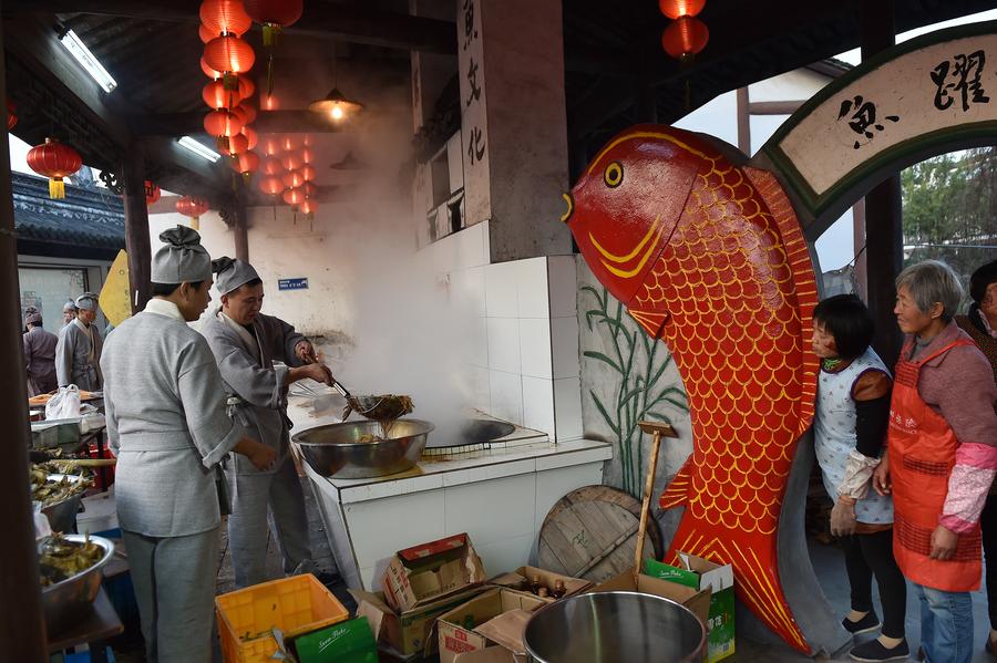
[{"label": "white vertical strip with black Chinese characters on the pillar", "polygon": [[481,0],[456,0],[466,225],[492,218]]}]

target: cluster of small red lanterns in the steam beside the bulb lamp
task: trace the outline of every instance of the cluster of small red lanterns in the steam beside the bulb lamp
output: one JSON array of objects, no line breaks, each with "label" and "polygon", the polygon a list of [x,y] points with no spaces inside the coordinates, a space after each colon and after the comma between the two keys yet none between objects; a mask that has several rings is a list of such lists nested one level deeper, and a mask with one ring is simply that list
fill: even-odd
[{"label": "cluster of small red lanterns in the steam beside the bulb lamp", "polygon": [[306,134],[266,136],[263,141],[264,158],[261,168],[264,177],[258,183],[259,190],[270,196],[275,205],[279,201],[290,206],[297,221],[298,211],[305,214],[309,221],[315,219],[316,194],[318,188],[314,180],[316,169],[312,165],[311,137]]}]

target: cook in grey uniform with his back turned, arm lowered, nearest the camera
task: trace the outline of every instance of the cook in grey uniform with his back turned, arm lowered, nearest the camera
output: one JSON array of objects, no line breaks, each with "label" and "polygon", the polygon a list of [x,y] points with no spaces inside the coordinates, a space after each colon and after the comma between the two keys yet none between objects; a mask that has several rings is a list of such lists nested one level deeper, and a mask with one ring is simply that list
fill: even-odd
[{"label": "cook in grey uniform with his back turned, arm lowered, nearest the camera", "polygon": [[187,325],[210,300],[201,236],[178,226],[160,239],[154,298],[109,336],[101,361],[107,435],[147,660],[209,663],[222,522],[215,467],[233,450],[260,469],[277,455],[228,417],[215,358]]}]

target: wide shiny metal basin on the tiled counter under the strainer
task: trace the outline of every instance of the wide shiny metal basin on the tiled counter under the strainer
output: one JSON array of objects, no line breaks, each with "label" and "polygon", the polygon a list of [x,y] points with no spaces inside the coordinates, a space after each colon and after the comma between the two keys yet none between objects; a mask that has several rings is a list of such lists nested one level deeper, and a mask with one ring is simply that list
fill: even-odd
[{"label": "wide shiny metal basin on the tiled counter under the strainer", "polygon": [[302,431],[294,436],[311,468],[323,477],[362,479],[398,474],[415,467],[433,431],[429,422],[398,419],[384,437],[378,422],[345,422]]}]

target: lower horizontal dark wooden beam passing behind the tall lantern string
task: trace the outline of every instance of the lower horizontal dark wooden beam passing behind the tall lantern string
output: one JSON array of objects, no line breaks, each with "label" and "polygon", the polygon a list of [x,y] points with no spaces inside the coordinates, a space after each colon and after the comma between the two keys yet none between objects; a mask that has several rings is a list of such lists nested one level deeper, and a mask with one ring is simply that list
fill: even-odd
[{"label": "lower horizontal dark wooden beam passing behind the tall lantern string", "polygon": [[[129,126],[136,135],[189,136],[204,133],[204,112],[133,115]],[[342,128],[310,111],[259,111],[253,123],[260,134],[332,134]]]}]

